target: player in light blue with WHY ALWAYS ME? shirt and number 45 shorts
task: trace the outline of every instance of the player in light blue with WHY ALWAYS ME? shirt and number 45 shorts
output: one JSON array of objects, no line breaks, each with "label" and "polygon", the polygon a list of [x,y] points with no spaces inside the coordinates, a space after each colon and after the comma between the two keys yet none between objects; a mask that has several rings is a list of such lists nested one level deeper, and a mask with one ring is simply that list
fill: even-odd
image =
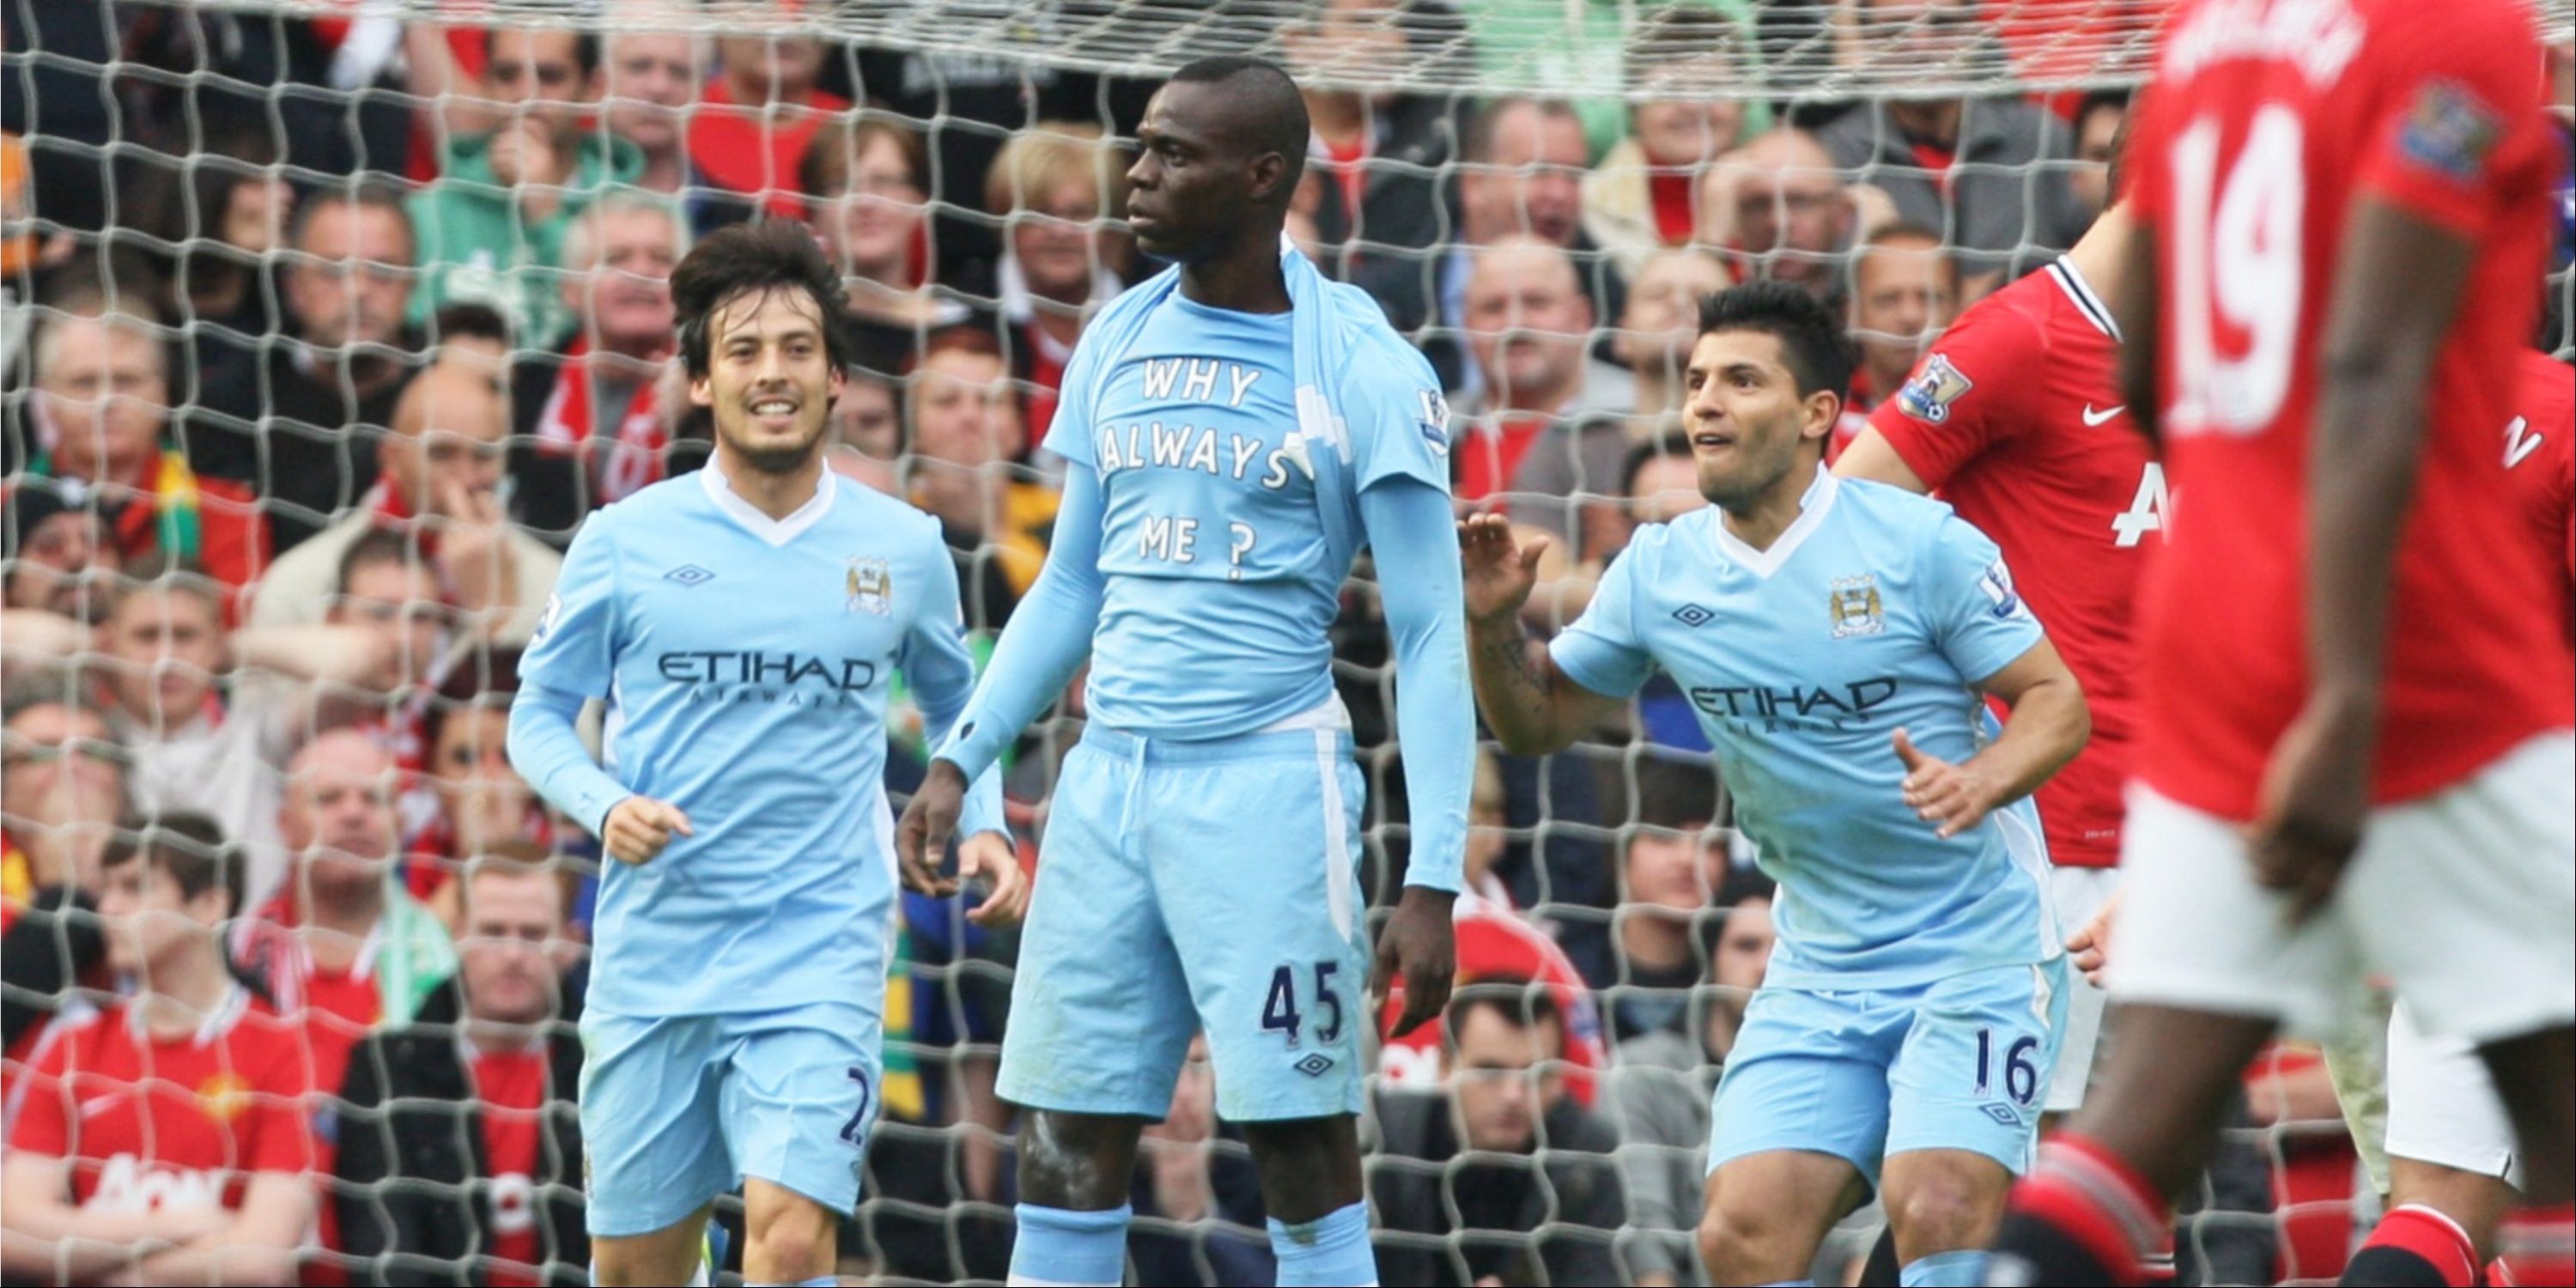
[{"label": "player in light blue with WHY ALWAYS ME? shirt and number 45 shorts", "polygon": [[1082,332],[1046,446],[1072,466],[1046,572],[904,811],[904,868],[1090,654],[1010,1036],[1012,1283],[1118,1283],[1136,1133],[1200,1028],[1244,1126],[1280,1283],[1376,1283],[1360,1200],[1360,773],[1327,629],[1368,546],[1396,654],[1406,889],[1376,953],[1401,1028],[1440,1015],[1473,706],[1448,425],[1430,363],[1363,291],[1283,252],[1306,106],[1203,59],[1146,106],[1128,214],[1177,268]]}]

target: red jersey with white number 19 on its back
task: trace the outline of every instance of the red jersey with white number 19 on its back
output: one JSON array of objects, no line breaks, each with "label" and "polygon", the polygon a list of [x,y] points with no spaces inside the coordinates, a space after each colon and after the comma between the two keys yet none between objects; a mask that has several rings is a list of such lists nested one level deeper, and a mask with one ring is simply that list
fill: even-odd
[{"label": "red jersey with white number 19 on its back", "polygon": [[2427,394],[2372,799],[2427,796],[2576,721],[2540,551],[2496,505],[2561,165],[2540,67],[2514,0],[2192,0],[2166,26],[2130,139],[2179,497],[2141,605],[2138,773],[2164,796],[2251,819],[2308,696],[2318,340],[2362,198],[2478,247]]}]

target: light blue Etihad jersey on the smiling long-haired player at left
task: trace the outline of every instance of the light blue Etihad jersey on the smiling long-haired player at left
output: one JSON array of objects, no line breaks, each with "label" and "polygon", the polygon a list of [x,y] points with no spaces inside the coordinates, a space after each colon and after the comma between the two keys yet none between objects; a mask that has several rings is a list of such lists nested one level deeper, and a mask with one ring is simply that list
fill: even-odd
[{"label": "light blue Etihad jersey on the smiling long-haired player at left", "polygon": [[[605,698],[603,768],[696,827],[600,863],[592,1007],[884,1002],[896,670],[935,726],[974,685],[940,526],[894,497],[824,471],[773,520],[708,464],[582,523],[520,675]],[[598,827],[616,801],[559,804]]]}]

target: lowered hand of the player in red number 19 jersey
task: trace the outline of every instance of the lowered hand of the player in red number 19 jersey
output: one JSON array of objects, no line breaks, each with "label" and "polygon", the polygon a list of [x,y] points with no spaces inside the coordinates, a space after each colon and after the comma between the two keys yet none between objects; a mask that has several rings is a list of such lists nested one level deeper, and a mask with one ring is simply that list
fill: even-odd
[{"label": "lowered hand of the player in red number 19 jersey", "polygon": [[2326,907],[2362,845],[2372,711],[2311,698],[2272,744],[2254,793],[2254,881],[2290,896],[2290,922]]}]

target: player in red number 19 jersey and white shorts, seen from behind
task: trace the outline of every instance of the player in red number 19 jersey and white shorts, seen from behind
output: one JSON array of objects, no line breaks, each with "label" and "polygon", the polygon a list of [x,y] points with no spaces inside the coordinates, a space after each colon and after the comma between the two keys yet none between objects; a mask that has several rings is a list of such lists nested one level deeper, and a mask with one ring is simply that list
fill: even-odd
[{"label": "player in red number 19 jersey and white shorts, seen from behind", "polygon": [[2514,0],[2166,26],[2123,392],[2187,500],[2141,600],[2123,1041],[1989,1283],[2136,1280],[2246,1061],[2362,971],[2478,1046],[2527,1164],[2506,1262],[2566,1275],[2576,654],[2494,505],[2561,165],[2540,72]]}]

